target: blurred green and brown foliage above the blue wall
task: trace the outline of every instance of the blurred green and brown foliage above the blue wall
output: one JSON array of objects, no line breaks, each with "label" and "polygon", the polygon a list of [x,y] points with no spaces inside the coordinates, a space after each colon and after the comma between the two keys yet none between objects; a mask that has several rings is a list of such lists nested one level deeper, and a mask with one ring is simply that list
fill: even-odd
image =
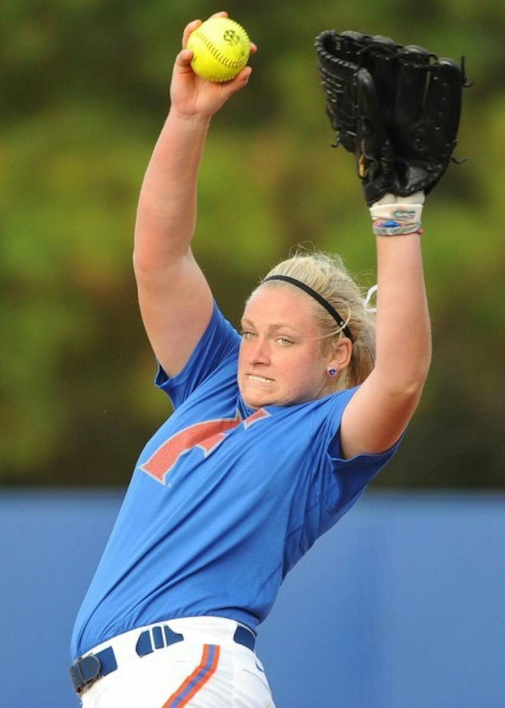
[{"label": "blurred green and brown foliage above the blue wall", "polygon": [[[353,158],[332,150],[313,41],[355,29],[467,57],[458,157],[430,196],[424,257],[433,365],[402,450],[375,486],[503,487],[503,0],[291,0],[225,7],[259,45],[213,120],[195,253],[237,324],[297,243],[372,285]],[[4,0],[0,19],[0,483],[124,485],[170,413],[131,268],[137,195],[196,0]],[[408,336],[408,333],[405,333]]]}]

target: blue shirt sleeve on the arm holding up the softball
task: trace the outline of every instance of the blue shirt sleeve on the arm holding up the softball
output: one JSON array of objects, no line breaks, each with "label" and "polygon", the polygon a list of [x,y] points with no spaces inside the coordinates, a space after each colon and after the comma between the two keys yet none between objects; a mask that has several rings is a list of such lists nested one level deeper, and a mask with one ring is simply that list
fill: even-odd
[{"label": "blue shirt sleeve on the arm holding up the softball", "polygon": [[154,384],[169,396],[174,409],[212,373],[237,359],[240,336],[214,302],[212,316],[193,353],[176,376],[170,377],[158,362]]}]

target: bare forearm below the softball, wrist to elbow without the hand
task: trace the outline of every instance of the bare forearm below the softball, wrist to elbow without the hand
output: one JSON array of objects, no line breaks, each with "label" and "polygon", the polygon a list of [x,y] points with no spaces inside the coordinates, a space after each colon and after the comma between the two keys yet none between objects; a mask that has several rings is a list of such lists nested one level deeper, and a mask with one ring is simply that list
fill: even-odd
[{"label": "bare forearm below the softball, wrist to elbow without the hand", "polygon": [[135,268],[164,268],[188,252],[210,118],[171,110],[149,161],[135,223]]}]

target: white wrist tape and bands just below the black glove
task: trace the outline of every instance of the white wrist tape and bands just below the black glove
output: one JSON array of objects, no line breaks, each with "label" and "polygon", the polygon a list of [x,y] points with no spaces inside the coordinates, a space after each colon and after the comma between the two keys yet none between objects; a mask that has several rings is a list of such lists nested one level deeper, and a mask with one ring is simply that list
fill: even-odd
[{"label": "white wrist tape and bands just below the black glove", "polygon": [[422,234],[423,205],[424,192],[416,192],[409,197],[384,195],[370,207],[374,234],[377,236]]}]

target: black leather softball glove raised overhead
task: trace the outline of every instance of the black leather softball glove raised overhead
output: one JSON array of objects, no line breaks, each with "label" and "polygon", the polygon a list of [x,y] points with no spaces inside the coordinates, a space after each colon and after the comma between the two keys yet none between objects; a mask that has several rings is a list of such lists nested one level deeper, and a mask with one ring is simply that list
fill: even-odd
[{"label": "black leather softball glove raised overhead", "polygon": [[464,61],[352,31],[327,30],[315,48],[335,145],[356,154],[368,205],[429,193],[457,143]]}]

